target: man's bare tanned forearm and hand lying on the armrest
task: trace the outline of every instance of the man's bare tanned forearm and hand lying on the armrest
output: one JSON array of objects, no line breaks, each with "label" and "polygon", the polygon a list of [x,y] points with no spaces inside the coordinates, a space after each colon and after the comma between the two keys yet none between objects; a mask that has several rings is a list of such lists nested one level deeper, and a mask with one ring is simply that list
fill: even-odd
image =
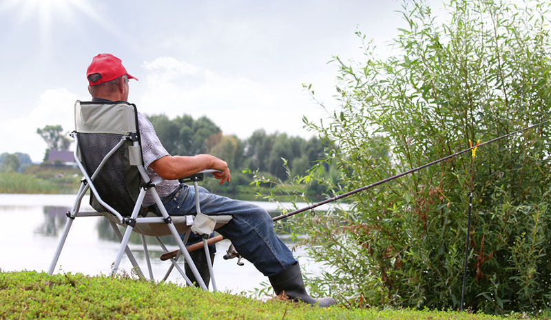
[{"label": "man's bare tanned forearm and hand lying on the armrest", "polygon": [[210,154],[198,154],[193,157],[183,156],[165,156],[153,161],[149,168],[152,168],[159,177],[167,180],[176,180],[188,177],[191,174],[205,169],[214,169],[220,172],[214,172],[216,179],[220,184],[229,182],[230,173],[226,161],[211,156]]}]

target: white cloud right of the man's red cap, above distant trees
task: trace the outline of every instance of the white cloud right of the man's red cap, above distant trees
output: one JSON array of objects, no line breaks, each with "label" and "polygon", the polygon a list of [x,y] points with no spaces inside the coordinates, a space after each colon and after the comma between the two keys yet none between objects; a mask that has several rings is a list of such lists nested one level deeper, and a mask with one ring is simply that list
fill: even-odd
[{"label": "white cloud right of the man's red cap, above distant trees", "polygon": [[259,128],[309,135],[302,129],[302,115],[318,108],[306,97],[300,83],[258,83],[173,57],[145,62],[143,68],[147,74],[138,110],[169,117],[206,115],[225,134],[241,138]]}]

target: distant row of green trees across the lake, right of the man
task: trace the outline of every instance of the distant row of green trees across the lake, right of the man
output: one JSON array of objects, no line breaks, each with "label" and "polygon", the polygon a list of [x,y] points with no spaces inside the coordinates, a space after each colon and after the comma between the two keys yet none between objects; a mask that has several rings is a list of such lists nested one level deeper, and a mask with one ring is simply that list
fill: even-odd
[{"label": "distant row of green trees across the lake, right of the man", "polygon": [[[229,163],[235,174],[244,169],[261,170],[279,179],[287,179],[282,158],[291,163],[293,173],[303,173],[315,161],[322,159],[326,143],[313,137],[306,141],[287,134],[267,134],[263,129],[241,141],[227,136],[207,117],[194,120],[191,116],[169,119],[165,114],[148,116],[157,136],[169,154],[194,155],[211,153]],[[329,166],[326,166],[329,168]],[[232,179],[249,183],[249,179]]]}]

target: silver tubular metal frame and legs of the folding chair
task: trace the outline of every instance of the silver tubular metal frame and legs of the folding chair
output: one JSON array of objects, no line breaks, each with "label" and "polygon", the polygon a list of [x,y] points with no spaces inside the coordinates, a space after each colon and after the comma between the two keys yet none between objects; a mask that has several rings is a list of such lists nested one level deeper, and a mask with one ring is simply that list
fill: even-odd
[{"label": "silver tubular metal frame and legs of the folding chair", "polygon": [[[120,103],[120,101],[118,101]],[[81,101],[76,101],[75,103],[75,112],[77,105],[80,107]],[[98,103],[101,104],[101,103]],[[134,108],[134,112],[137,112],[136,106],[134,104],[125,103],[125,106],[128,108]],[[75,114],[76,117],[76,114]],[[105,217],[110,221],[110,225],[112,226],[116,236],[121,241],[121,246],[118,249],[118,252],[116,254],[115,261],[113,263],[112,269],[111,269],[111,275],[114,276],[117,272],[118,266],[121,263],[121,259],[123,257],[123,254],[125,253],[129,259],[129,261],[132,263],[132,266],[135,268],[136,272],[138,273],[138,276],[141,278],[145,278],[141,268],[138,266],[138,262],[134,258],[134,255],[132,254],[132,251],[128,247],[128,241],[130,238],[130,234],[132,232],[138,232],[141,233],[142,242],[143,242],[143,250],[145,253],[145,259],[147,263],[147,268],[149,271],[149,279],[154,280],[154,275],[151,267],[151,262],[149,260],[149,250],[147,249],[147,244],[145,242],[145,234],[140,232],[140,227],[148,227],[148,226],[161,226],[161,228],[167,228],[165,230],[166,234],[171,234],[176,243],[178,244],[178,247],[180,248],[180,253],[175,258],[170,259],[171,266],[169,267],[169,270],[167,270],[167,273],[165,274],[165,277],[162,281],[165,281],[167,277],[169,276],[171,270],[173,268],[176,268],[178,272],[182,275],[182,277],[185,279],[186,283],[189,286],[193,286],[193,283],[189,280],[189,278],[185,275],[185,272],[182,270],[182,268],[178,265],[178,257],[180,254],[183,254],[185,262],[189,264],[189,268],[191,269],[191,272],[193,272],[194,277],[196,281],[198,282],[199,286],[204,289],[208,290],[207,286],[205,286],[205,282],[202,281],[202,277],[200,277],[200,274],[198,272],[198,269],[195,266],[194,261],[191,259],[188,251],[185,247],[185,242],[187,242],[187,238],[189,237],[189,234],[191,233],[190,226],[193,224],[193,216],[170,216],[163,206],[163,202],[161,201],[155,186],[158,185],[158,183],[162,182],[163,179],[158,179],[156,181],[151,181],[149,179],[149,176],[147,172],[145,171],[145,168],[143,166],[143,159],[141,158],[141,153],[139,154],[139,163],[131,163],[133,166],[136,166],[138,169],[138,172],[141,175],[141,178],[144,183],[140,186],[140,191],[138,193],[137,201],[134,204],[134,208],[132,209],[132,214],[130,217],[123,217],[123,215],[112,208],[108,203],[103,201],[100,194],[98,193],[98,190],[96,190],[96,186],[94,186],[94,179],[97,177],[98,173],[101,171],[103,166],[105,166],[105,163],[107,163],[107,160],[112,157],[112,155],[122,146],[125,145],[126,141],[132,141],[132,146],[135,148],[135,150],[139,150],[141,152],[141,146],[140,146],[140,139],[139,139],[139,130],[136,120],[136,130],[134,132],[128,132],[128,134],[123,134],[121,137],[121,141],[119,141],[114,148],[107,154],[105,154],[105,157],[101,161],[101,163],[98,165],[96,170],[92,173],[92,175],[89,175],[87,170],[85,170],[83,163],[81,163],[81,160],[79,158],[79,139],[77,137],[76,132],[72,132],[71,136],[74,138],[75,141],[75,150],[74,150],[74,159],[79,166],[79,169],[81,170],[83,174],[83,179],[81,179],[81,186],[79,188],[79,191],[76,194],[76,199],[74,200],[73,206],[70,211],[67,212],[67,222],[65,223],[65,228],[63,229],[63,233],[61,234],[61,238],[59,239],[58,246],[56,248],[56,251],[54,253],[54,257],[52,258],[52,261],[50,263],[50,268],[48,269],[48,273],[52,274],[54,272],[54,268],[57,264],[57,261],[59,260],[59,256],[61,254],[61,250],[63,249],[63,246],[65,244],[65,241],[67,239],[67,235],[69,234],[70,228],[72,226],[72,223],[76,217]],[[136,154],[134,154],[134,157],[136,157]],[[132,158],[132,154],[131,154]],[[135,159],[135,158],[134,158]],[[136,160],[134,160],[136,162]],[[188,181],[192,181],[194,183],[194,188],[196,189],[196,210],[198,214],[200,213],[200,205],[199,205],[199,199],[198,199],[198,181],[202,180],[202,174],[204,173],[211,173],[215,172],[216,170],[204,170],[202,172],[198,172],[198,174],[187,177],[189,178]],[[103,208],[107,209],[107,212],[98,212],[98,211],[81,211],[81,202],[87,191],[90,190],[92,194],[94,194],[94,197],[96,197],[96,200],[98,203],[101,203],[101,206]],[[159,213],[161,214],[161,217],[138,217],[138,213],[141,212],[143,199],[145,197],[146,192],[151,192],[151,194],[154,197],[156,206]],[[92,195],[91,195],[92,196]],[[216,220],[216,228],[219,228],[220,226],[223,226],[229,219],[231,219],[231,216],[211,216],[211,218]],[[177,230],[175,224],[178,226],[180,231]],[[126,226],[126,230],[124,234],[121,234],[121,231],[118,229],[118,226]],[[136,230],[138,229],[138,230]],[[180,238],[180,232],[185,232],[185,238],[182,240]],[[146,232],[147,233],[147,232]],[[154,235],[154,234],[149,234]],[[160,234],[165,235],[165,234]],[[163,242],[160,240],[159,235],[154,235],[154,238],[158,242],[159,246],[163,249],[164,252],[169,252]],[[205,254],[207,257],[207,264],[209,267],[209,272],[211,275],[211,283],[213,286],[213,290],[218,290],[216,288],[216,281],[214,278],[214,272],[212,270],[212,264],[209,254],[209,246],[207,244],[207,239],[203,237],[203,246],[205,248]]]}]

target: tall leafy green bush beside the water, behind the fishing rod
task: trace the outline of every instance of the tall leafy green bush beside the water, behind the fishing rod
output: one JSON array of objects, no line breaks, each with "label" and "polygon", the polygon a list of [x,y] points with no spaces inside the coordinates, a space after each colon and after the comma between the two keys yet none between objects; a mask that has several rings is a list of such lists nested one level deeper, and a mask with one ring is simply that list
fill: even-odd
[{"label": "tall leafy green bush beside the water, behind the fishing rod", "polygon": [[[550,3],[448,1],[439,24],[404,6],[399,54],[339,68],[339,110],[306,125],[329,142],[325,163],[347,192],[548,119]],[[311,87],[308,87],[311,89]],[[551,301],[549,124],[477,152],[466,307],[538,312]],[[289,219],[326,263],[313,292],[354,306],[459,308],[470,154],[356,194],[351,209]],[[324,163],[307,177],[320,177]],[[295,181],[300,181],[295,178]],[[292,192],[292,191],[291,191]],[[298,194],[298,193],[297,193]],[[300,196],[300,194],[298,194]]]}]

